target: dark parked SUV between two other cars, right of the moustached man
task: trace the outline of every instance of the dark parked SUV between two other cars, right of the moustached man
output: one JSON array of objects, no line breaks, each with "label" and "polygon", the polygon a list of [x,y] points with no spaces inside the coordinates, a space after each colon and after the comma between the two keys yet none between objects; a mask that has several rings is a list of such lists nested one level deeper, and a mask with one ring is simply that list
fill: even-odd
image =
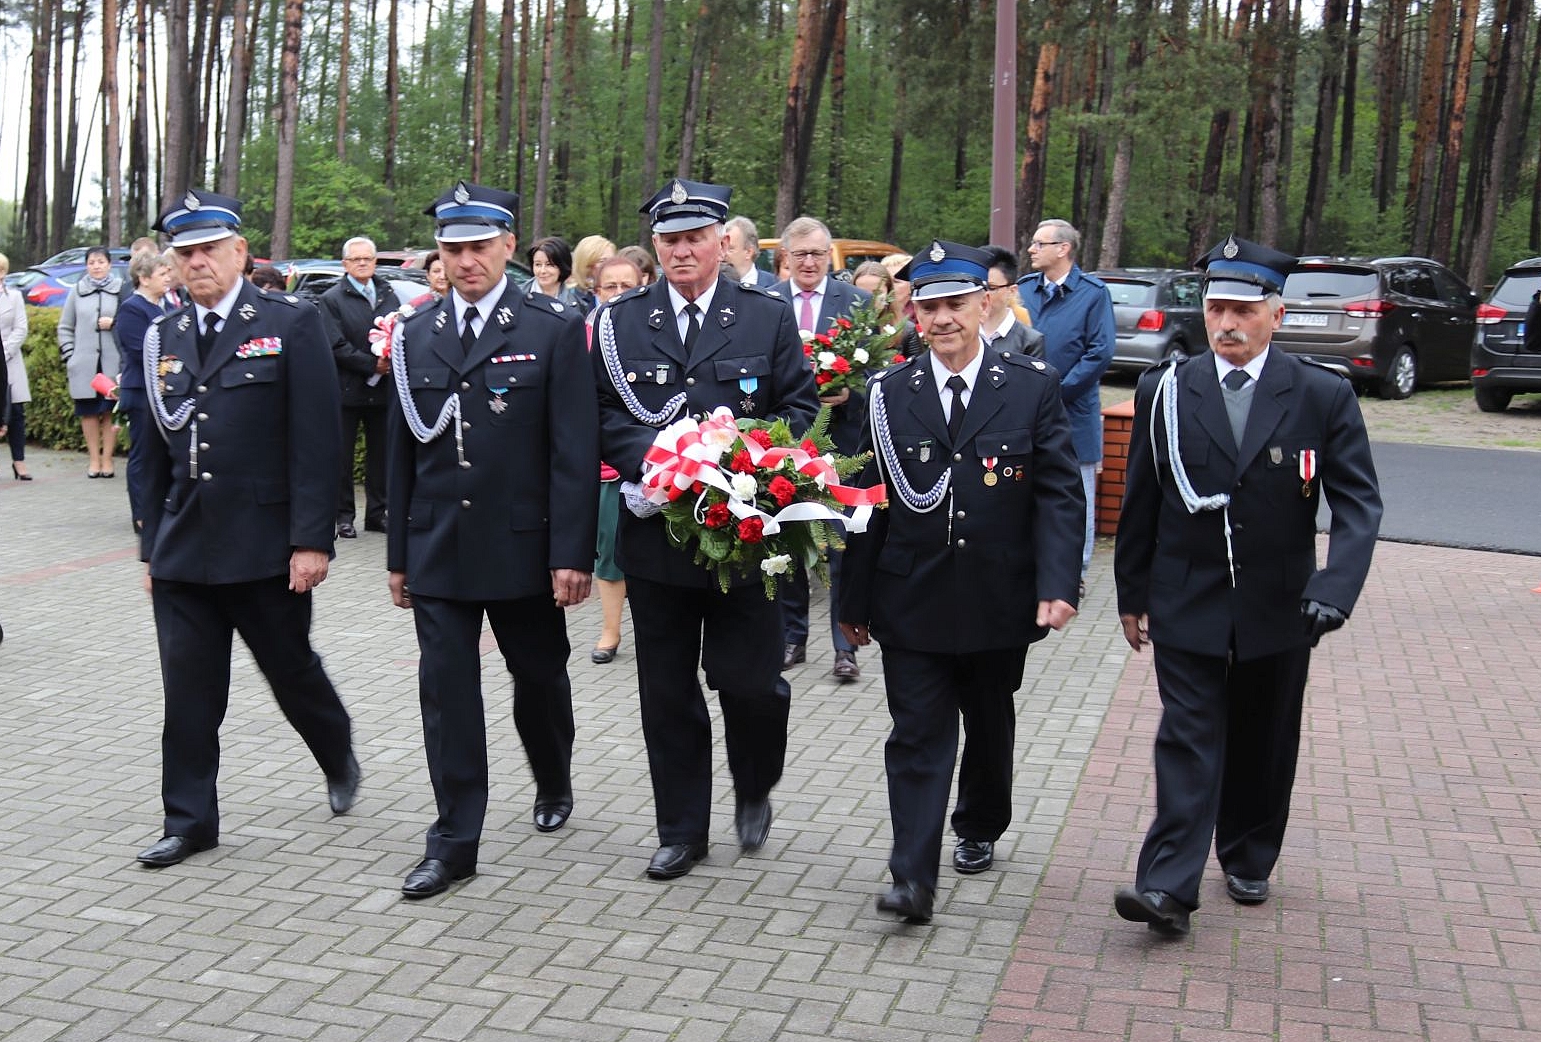
[{"label": "dark parked SUV between two other cars, right of the moustached man", "polygon": [[1407,398],[1419,384],[1467,379],[1479,302],[1427,257],[1302,257],[1284,282],[1273,344],[1381,398]]}]

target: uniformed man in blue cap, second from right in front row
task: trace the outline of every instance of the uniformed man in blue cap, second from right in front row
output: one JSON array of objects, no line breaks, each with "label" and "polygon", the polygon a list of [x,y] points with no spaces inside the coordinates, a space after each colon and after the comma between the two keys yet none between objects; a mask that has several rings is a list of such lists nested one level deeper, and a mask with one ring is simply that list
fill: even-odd
[{"label": "uniformed man in blue cap, second from right in front row", "polygon": [[994,863],[1011,823],[1016,703],[1028,644],[1076,615],[1086,501],[1045,362],[986,347],[989,257],[932,242],[911,282],[929,351],[868,385],[863,484],[888,484],[888,510],[846,549],[846,637],[883,647],[894,729],[885,749],[894,883],[878,911],[931,919],[942,826],[959,752],[952,863]]}]

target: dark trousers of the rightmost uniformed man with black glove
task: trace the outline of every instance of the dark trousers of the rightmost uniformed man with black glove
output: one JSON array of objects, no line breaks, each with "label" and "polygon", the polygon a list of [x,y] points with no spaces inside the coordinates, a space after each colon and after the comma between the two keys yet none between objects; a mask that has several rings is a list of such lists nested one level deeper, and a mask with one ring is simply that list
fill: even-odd
[{"label": "dark trousers of the rightmost uniformed man with black glove", "polygon": [[1279,860],[1311,649],[1231,661],[1153,647],[1162,703],[1156,818],[1134,882],[1191,909],[1211,837],[1228,874],[1268,879]]}]

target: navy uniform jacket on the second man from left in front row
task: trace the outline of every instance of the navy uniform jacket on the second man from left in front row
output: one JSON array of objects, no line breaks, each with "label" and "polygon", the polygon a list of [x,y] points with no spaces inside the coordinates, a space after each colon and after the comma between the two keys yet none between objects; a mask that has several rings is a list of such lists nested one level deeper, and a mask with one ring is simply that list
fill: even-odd
[{"label": "navy uniform jacket on the second man from left in front row", "polygon": [[422,444],[390,410],[388,569],[413,593],[464,601],[549,595],[552,569],[592,572],[598,424],[578,313],[510,282],[464,358],[448,294],[405,319],[399,345],[402,398],[431,427],[458,393],[461,430]]}]

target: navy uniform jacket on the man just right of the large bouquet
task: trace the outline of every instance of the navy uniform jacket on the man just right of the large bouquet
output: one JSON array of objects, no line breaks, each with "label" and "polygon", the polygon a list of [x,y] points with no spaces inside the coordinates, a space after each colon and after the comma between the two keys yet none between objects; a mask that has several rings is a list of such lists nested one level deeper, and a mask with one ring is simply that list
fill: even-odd
[{"label": "navy uniform jacket on the man just right of the large bouquet", "polygon": [[[955,444],[929,353],[869,384],[871,395],[881,381],[909,484],[925,492],[952,472],[934,510],[912,510],[891,484],[888,509],[848,538],[840,620],[869,626],[880,644],[938,654],[1025,647],[1048,634],[1036,620],[1040,600],[1077,603],[1086,504],[1059,376],[1016,351],[983,351]],[[863,447],[881,436],[871,422],[863,433]],[[991,458],[994,486],[985,482]],[[875,476],[874,464],[863,484]]]}]

